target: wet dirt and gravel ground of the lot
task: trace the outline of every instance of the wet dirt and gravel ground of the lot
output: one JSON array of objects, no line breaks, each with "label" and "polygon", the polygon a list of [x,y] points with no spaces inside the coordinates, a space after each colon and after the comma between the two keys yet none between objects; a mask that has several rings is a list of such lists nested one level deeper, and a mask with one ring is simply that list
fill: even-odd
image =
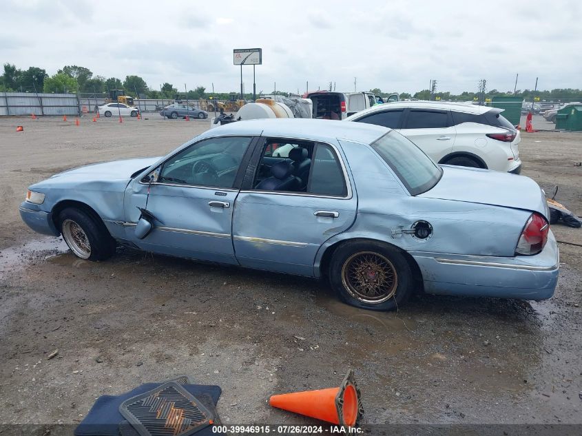
[{"label": "wet dirt and gravel ground of the lot", "polygon": [[[25,227],[31,183],[160,156],[209,127],[145,118],[0,119],[1,423],[75,424],[99,395],[187,374],[222,387],[227,424],[312,424],[270,408],[269,395],[337,386],[353,368],[366,424],[582,424],[582,247],[563,243],[582,245],[581,229],[552,226],[562,242],[551,300],[418,295],[373,313],[292,276],[131,250],[86,262]],[[520,146],[522,174],[548,193],[558,185],[578,215],[581,142],[538,132]]]}]

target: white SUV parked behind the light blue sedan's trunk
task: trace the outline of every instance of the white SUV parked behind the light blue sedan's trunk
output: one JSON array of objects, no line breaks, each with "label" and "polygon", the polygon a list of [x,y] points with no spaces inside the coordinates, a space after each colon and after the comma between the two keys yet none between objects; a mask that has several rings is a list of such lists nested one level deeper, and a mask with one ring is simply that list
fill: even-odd
[{"label": "white SUV parked behind the light blue sedan's trunk", "polygon": [[390,127],[435,162],[519,174],[521,135],[496,107],[437,101],[376,105],[346,118]]}]

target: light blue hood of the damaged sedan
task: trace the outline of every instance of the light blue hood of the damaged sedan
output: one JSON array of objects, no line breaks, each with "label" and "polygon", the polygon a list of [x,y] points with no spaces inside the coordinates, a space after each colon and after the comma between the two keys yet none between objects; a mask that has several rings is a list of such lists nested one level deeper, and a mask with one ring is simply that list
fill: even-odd
[{"label": "light blue hood of the damaged sedan", "polygon": [[120,180],[129,179],[132,174],[140,169],[146,169],[154,165],[160,158],[138,158],[126,160],[114,160],[113,162],[94,163],[69,169],[55,174],[52,178],[78,178],[80,180]]}]

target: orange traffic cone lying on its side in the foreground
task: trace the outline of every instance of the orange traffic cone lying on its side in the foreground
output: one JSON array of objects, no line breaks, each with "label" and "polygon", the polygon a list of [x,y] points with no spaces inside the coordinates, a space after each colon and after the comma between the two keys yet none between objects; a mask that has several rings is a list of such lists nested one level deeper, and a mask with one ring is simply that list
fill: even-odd
[{"label": "orange traffic cone lying on its side in the foreground", "polygon": [[360,390],[351,370],[339,388],[273,395],[269,404],[284,411],[350,427],[355,426],[364,413]]}]

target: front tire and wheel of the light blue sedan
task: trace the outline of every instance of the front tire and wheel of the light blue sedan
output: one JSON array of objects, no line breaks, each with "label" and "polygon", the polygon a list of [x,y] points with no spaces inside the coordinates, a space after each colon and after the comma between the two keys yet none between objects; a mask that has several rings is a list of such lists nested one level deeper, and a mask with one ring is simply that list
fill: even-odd
[{"label": "front tire and wheel of the light blue sedan", "polygon": [[105,260],[115,253],[116,243],[103,222],[74,207],[59,214],[63,239],[75,256],[86,260]]}]

